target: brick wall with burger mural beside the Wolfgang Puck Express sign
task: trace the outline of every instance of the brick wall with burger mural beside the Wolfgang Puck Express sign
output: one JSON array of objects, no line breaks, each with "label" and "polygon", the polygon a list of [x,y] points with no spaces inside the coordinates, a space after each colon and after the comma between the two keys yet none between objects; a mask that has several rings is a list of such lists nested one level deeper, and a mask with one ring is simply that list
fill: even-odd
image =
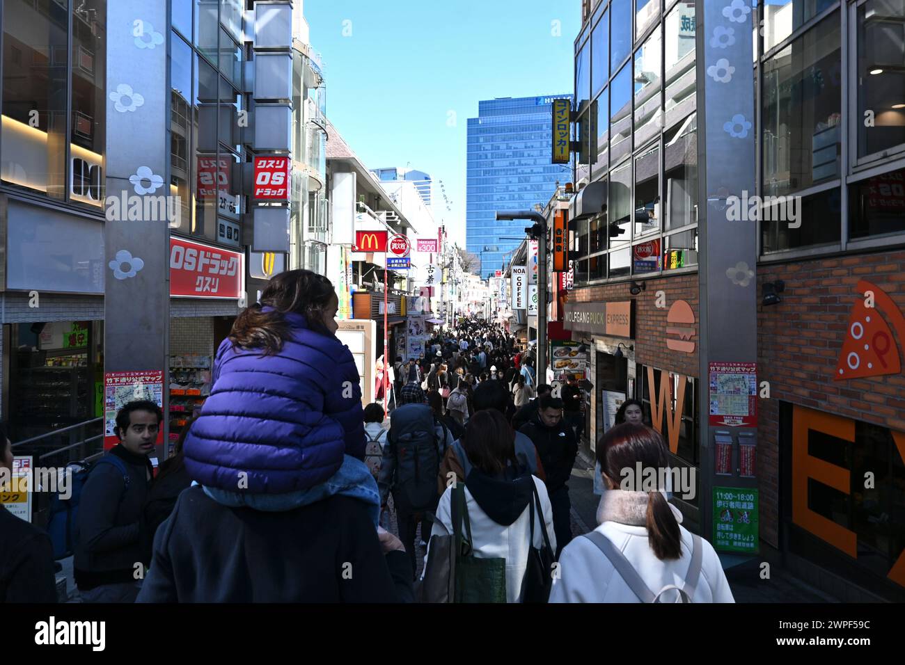
[{"label": "brick wall with burger mural beside the Wolfgang Puck Express sign", "polygon": [[[634,304],[634,359],[641,365],[668,369],[686,376],[698,376],[700,345],[700,315],[698,301],[697,273],[646,280],[645,290],[637,296],[629,293],[629,283],[619,282],[574,290],[569,299],[574,302],[607,302],[630,300]],[[666,307],[656,306],[657,291],[666,296]],[[672,351],[666,347],[666,315],[676,300],[685,300],[691,305],[695,318],[695,347],[690,354]]]}]

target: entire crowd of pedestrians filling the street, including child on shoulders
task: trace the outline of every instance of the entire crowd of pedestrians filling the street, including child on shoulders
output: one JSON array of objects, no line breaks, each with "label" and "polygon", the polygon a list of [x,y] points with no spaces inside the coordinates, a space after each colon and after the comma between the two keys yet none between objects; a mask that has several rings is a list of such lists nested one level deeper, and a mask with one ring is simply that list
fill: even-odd
[{"label": "entire crowd of pedestrians filling the street, including child on shoulders", "polygon": [[[84,602],[641,602],[666,587],[667,600],[732,602],[712,546],[664,489],[620,489],[620,470],[668,463],[634,411],[597,442],[600,526],[573,538],[575,377],[554,396],[513,335],[471,319],[396,357],[388,413],[363,408],[337,307],[321,275],[272,278],[156,477],[163,413],[118,413],[119,445],[81,490]],[[0,451],[9,466],[5,435]],[[0,555],[0,602],[51,600],[49,540],[5,508]]]}]

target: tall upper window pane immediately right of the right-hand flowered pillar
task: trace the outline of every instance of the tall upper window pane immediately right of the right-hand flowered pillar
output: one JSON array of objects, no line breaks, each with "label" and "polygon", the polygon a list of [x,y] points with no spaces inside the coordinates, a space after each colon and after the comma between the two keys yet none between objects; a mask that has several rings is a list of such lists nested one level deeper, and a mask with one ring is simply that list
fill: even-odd
[{"label": "tall upper window pane immediately right of the right-hand flowered pillar", "polygon": [[839,13],[763,65],[763,192],[786,195],[839,177],[842,147]]}]

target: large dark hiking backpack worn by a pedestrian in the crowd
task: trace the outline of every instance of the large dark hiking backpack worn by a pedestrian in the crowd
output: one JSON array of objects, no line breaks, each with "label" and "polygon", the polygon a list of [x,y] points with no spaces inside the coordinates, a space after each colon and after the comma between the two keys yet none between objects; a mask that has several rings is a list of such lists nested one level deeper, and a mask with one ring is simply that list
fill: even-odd
[{"label": "large dark hiking backpack worn by a pedestrian in the crowd", "polygon": [[[438,450],[436,426],[443,426],[443,451]],[[446,426],[433,417],[427,404],[403,404],[390,418],[387,435],[395,451],[396,503],[411,512],[433,509],[437,502],[437,476],[443,461]]]}]

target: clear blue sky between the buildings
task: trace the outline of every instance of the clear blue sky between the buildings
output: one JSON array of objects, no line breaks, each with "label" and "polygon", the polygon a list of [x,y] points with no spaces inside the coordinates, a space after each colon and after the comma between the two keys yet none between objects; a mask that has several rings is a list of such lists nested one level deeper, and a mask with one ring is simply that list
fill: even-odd
[{"label": "clear blue sky between the buildings", "polygon": [[443,180],[452,210],[435,184],[434,214],[463,245],[468,119],[478,100],[572,90],[580,0],[305,0],[304,14],[331,122],[368,168]]}]

